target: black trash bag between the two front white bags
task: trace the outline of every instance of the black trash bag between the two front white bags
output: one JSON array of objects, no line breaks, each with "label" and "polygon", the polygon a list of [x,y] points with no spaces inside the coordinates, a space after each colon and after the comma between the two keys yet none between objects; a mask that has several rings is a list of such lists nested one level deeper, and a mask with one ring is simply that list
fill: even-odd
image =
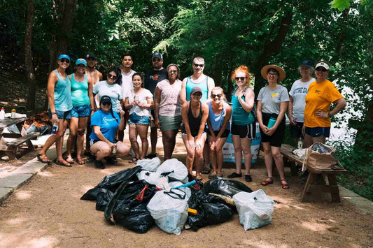
[{"label": "black trash bag between the two front white bags", "polygon": [[221,224],[232,218],[233,210],[218,196],[211,196],[202,190],[193,190],[188,200],[190,208],[197,210],[197,215],[189,215],[187,223],[197,231],[204,226]]}]

